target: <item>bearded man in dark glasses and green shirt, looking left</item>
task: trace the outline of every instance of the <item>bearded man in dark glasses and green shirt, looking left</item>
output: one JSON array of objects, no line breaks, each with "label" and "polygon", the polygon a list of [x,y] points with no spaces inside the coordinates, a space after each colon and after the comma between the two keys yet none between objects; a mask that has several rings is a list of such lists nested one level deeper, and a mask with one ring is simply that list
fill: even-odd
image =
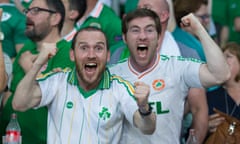
[{"label": "bearded man in dark glasses and green shirt, looking left", "polygon": [[[10,91],[4,95],[0,133],[4,135],[12,112],[13,94],[24,75],[44,47],[57,47],[58,53],[41,68],[39,73],[46,74],[54,68],[73,67],[69,51],[71,43],[62,40],[60,32],[64,23],[65,10],[61,0],[33,0],[25,11],[26,35],[31,39],[25,43],[13,64],[13,80]],[[26,66],[27,64],[27,66]],[[47,107],[16,112],[21,127],[22,143],[47,143]]]}]

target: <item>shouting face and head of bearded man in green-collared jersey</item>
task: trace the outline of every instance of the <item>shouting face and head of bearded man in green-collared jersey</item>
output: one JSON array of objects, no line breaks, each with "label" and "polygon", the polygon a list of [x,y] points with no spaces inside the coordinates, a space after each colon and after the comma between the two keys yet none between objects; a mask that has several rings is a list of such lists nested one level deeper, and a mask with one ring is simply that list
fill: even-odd
[{"label": "shouting face and head of bearded man in green-collared jersey", "polygon": [[80,85],[86,90],[97,87],[110,57],[104,34],[100,31],[80,32],[71,57],[76,62]]}]

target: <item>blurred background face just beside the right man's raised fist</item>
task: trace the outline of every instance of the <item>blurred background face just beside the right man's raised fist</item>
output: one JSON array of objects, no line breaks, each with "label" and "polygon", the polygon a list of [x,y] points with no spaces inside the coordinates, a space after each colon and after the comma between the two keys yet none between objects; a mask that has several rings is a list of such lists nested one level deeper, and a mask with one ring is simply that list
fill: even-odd
[{"label": "blurred background face just beside the right man's raised fist", "polygon": [[199,21],[205,27],[206,30],[209,29],[210,15],[208,7],[205,4],[202,4],[200,8],[194,13],[198,17]]}]

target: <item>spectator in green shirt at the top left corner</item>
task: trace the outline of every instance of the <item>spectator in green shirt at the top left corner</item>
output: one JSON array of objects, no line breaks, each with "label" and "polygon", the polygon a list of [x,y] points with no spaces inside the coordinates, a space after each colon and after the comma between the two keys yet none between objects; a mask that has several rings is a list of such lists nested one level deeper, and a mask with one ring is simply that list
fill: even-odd
[{"label": "spectator in green shirt at the top left corner", "polygon": [[1,29],[4,33],[3,51],[13,60],[23,44],[28,40],[24,34],[26,17],[10,4],[9,0],[1,0],[3,9]]}]

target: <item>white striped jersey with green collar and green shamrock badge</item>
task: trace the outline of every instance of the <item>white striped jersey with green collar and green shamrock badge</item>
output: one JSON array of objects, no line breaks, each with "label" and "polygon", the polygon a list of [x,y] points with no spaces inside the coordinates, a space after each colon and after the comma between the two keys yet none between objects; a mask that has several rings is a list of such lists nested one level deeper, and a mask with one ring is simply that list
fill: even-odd
[{"label": "white striped jersey with green collar and green shamrock badge", "polygon": [[[46,79],[47,78],[47,79]],[[104,72],[97,89],[84,91],[73,71],[38,77],[42,99],[48,106],[48,144],[117,144],[124,116],[133,124],[137,104],[133,86]]]}]

